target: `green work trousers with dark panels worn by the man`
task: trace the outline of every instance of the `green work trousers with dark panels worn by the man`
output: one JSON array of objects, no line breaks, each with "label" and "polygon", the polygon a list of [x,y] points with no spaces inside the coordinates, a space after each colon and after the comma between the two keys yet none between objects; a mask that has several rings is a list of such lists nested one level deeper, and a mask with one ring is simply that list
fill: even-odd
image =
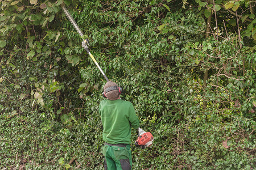
[{"label": "green work trousers with dark panels worn by the man", "polygon": [[104,169],[131,169],[131,146],[109,146],[103,147],[103,154],[105,156]]}]

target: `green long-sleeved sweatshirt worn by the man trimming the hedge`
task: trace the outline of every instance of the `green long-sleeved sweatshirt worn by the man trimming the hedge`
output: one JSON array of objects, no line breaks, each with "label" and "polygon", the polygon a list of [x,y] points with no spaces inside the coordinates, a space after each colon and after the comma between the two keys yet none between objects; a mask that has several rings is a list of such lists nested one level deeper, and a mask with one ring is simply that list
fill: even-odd
[{"label": "green long-sleeved sweatshirt worn by the man trimming the hedge", "polygon": [[103,140],[107,143],[131,144],[131,128],[139,128],[133,104],[129,101],[102,100],[99,107],[103,125]]}]

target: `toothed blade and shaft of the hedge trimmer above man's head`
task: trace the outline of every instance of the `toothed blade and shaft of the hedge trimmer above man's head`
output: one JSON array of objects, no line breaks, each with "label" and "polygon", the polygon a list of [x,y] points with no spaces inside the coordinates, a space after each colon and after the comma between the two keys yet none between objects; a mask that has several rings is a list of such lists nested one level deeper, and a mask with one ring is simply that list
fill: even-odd
[{"label": "toothed blade and shaft of the hedge trimmer above man's head", "polygon": [[[84,35],[82,34],[81,29],[79,28],[79,26],[76,24],[75,20],[72,18],[72,16],[69,14],[67,8],[65,8],[64,6],[62,6],[63,11],[65,12],[65,14],[67,15],[68,19],[70,20],[70,22],[72,23],[72,25],[76,28],[76,31],[79,33],[79,35],[81,37],[83,37]],[[86,50],[86,52],[89,54],[90,58],[92,58],[92,60],[94,61],[94,63],[96,64],[96,66],[98,67],[98,69],[101,71],[102,75],[104,76],[104,78],[106,79],[106,81],[108,82],[109,79],[106,76],[106,74],[102,71],[101,67],[98,65],[96,59],[93,57],[93,55],[90,53],[89,50],[89,41],[88,39],[85,39],[82,41],[82,47]]]}]

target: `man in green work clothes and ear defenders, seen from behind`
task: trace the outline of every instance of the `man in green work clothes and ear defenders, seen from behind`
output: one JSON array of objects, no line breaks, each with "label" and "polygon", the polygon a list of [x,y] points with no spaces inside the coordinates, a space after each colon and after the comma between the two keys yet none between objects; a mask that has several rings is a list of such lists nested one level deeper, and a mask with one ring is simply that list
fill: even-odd
[{"label": "man in green work clothes and ear defenders, seen from behind", "polygon": [[120,99],[122,89],[114,82],[107,82],[99,107],[103,125],[103,154],[105,169],[131,169],[131,128],[139,128],[139,119],[133,104]]}]

